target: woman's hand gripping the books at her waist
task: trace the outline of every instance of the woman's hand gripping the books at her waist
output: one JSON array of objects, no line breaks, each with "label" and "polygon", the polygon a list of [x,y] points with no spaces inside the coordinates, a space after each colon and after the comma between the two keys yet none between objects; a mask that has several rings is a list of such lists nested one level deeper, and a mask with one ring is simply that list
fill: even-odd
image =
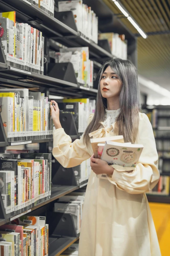
[{"label": "woman's hand gripping the books at her waist", "polygon": [[114,168],[108,165],[106,161],[103,161],[99,158],[94,158],[94,155],[92,155],[90,159],[90,166],[92,168],[92,171],[96,174],[107,174],[107,175],[113,175]]}]

